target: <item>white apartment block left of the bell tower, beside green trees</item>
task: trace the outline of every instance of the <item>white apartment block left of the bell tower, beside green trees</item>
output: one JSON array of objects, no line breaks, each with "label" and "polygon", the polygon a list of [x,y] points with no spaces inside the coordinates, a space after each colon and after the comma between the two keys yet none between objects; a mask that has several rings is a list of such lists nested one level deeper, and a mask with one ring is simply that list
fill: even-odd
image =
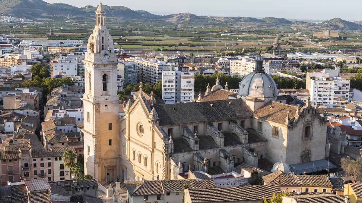
[{"label": "white apartment block left of the bell tower, beside green trees", "polygon": [[59,57],[49,62],[50,75],[55,77],[56,75],[77,75],[78,74],[78,62],[74,59],[68,59],[66,57]]}]

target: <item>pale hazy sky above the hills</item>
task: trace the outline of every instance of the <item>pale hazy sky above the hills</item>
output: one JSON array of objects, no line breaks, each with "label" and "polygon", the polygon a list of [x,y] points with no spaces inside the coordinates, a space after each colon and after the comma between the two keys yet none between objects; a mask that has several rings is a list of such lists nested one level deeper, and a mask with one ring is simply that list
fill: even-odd
[{"label": "pale hazy sky above the hills", "polygon": [[[76,7],[96,6],[99,0],[45,0]],[[102,0],[102,4],[125,6],[155,14],[192,13],[205,16],[277,17],[288,19],[362,20],[362,0]]]}]

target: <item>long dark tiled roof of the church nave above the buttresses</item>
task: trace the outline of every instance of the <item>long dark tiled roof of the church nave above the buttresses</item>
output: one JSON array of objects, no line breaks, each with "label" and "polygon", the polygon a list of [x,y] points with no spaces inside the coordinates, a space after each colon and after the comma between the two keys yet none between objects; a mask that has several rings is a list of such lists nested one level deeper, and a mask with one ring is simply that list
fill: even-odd
[{"label": "long dark tiled roof of the church nave above the buttresses", "polygon": [[153,107],[159,115],[160,126],[234,120],[251,117],[253,113],[243,99],[162,104]]}]

